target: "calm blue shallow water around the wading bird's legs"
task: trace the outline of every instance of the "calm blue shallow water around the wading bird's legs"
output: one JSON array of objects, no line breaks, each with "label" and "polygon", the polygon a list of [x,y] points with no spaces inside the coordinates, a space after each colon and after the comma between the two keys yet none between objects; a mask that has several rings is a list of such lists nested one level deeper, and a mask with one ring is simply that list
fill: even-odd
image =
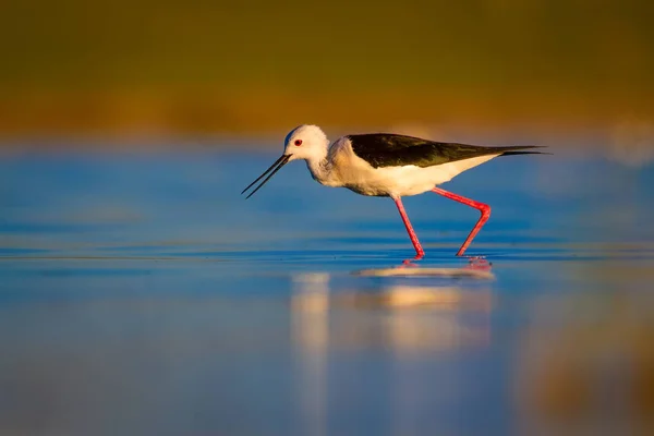
[{"label": "calm blue shallow water around the wading bird's legs", "polygon": [[[362,277],[413,255],[397,210],[277,156],[0,159],[0,434],[646,432],[654,169],[565,153],[444,187],[493,206],[493,280]],[[477,218],[405,207],[427,256]],[[562,433],[561,433],[562,432]]]}]

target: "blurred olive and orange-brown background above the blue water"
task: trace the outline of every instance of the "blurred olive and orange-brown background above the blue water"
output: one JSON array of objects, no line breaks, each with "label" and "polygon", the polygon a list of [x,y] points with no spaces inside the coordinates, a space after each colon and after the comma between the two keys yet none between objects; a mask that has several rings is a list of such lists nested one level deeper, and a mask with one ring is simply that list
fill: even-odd
[{"label": "blurred olive and orange-brown background above the blue water", "polygon": [[654,118],[652,2],[9,0],[0,137]]}]

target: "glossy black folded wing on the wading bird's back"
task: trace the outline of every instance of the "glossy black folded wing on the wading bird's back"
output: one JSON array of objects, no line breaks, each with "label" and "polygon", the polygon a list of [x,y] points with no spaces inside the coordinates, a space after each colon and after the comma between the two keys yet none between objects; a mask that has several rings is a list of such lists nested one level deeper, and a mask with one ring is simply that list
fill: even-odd
[{"label": "glossy black folded wing on the wading bird's back", "polygon": [[534,145],[484,147],[457,143],[438,143],[391,133],[348,135],[348,138],[352,143],[354,154],[374,168],[405,165],[425,168],[488,155],[541,154],[538,152],[522,152],[530,148],[540,148]]}]

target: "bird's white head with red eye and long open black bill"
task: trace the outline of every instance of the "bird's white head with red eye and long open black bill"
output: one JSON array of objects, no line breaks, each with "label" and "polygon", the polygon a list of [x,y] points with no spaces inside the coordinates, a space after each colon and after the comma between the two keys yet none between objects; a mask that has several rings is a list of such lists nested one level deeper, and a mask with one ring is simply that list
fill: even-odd
[{"label": "bird's white head with red eye and long open black bill", "polygon": [[291,160],[304,159],[322,159],[325,157],[327,147],[329,146],[329,140],[325,132],[317,125],[302,124],[289,132],[286,140],[283,141],[283,155],[275,161],[262,175],[259,175],[254,182],[243,190],[241,194],[244,194],[251,189],[256,182],[264,179],[258,186],[252,191],[246,198],[250,198],[257,192],[270,178],[281,169],[284,165]]}]

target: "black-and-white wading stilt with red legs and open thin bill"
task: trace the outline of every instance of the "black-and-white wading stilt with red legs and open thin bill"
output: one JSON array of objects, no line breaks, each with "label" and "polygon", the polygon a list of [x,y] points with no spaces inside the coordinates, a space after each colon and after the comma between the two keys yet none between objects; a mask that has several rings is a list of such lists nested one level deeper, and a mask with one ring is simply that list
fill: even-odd
[{"label": "black-and-white wading stilt with red legs and open thin bill", "polygon": [[347,187],[361,195],[390,197],[415,249],[414,259],[419,261],[424,257],[425,252],[409,220],[402,197],[434,192],[481,213],[481,217],[456,254],[463,256],[474,237],[491,217],[491,206],[445,191],[438,185],[499,156],[545,154],[536,148],[543,147],[489,147],[444,143],[395,133],[350,134],[330,143],[319,126],[302,124],[286,136],[283,154],[279,159],[241,194],[245,194],[263,179],[246,196],[250,198],[283,166],[293,160],[304,160],[312,178],[323,185]]}]

